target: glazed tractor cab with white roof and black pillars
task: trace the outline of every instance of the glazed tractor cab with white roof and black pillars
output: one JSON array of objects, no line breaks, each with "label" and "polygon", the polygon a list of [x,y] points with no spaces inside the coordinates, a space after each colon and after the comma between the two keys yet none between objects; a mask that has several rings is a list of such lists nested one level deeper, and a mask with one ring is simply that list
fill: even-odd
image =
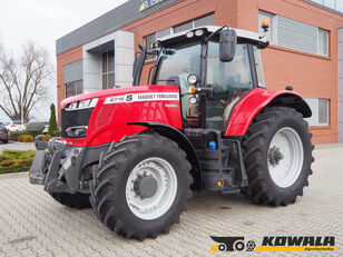
[{"label": "glazed tractor cab with white roof and black pillars", "polygon": [[[150,80],[179,88],[184,127],[225,132],[234,106],[253,88],[265,87],[259,49],[267,46],[257,33],[226,27],[167,36],[153,43]],[[146,55],[144,47],[141,52],[137,60]]]}]

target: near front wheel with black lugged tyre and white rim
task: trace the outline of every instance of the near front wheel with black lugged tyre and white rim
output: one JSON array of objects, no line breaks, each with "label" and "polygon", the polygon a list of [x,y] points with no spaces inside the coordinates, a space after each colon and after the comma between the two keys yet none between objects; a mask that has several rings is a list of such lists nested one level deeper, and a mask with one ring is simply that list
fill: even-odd
[{"label": "near front wheel with black lugged tyre and white rim", "polygon": [[190,168],[178,145],[158,134],[124,138],[101,154],[94,169],[92,208],[125,238],[156,238],[187,209]]}]

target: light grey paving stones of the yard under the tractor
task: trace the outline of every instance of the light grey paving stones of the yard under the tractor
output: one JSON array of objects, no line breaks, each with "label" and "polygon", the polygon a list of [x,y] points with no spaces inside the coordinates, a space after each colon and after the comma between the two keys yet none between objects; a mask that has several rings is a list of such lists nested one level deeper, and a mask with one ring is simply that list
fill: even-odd
[{"label": "light grey paving stones of the yard under the tractor", "polygon": [[[265,207],[242,195],[196,192],[188,211],[168,235],[143,243],[106,229],[91,209],[75,210],[55,201],[28,174],[0,176],[0,256],[223,256],[209,253],[210,236],[335,236],[336,251],[302,256],[343,256],[343,148],[314,152],[314,175],[304,197],[287,207]],[[243,256],[231,253],[229,256]],[[244,253],[294,256],[294,253]],[[298,255],[297,255],[298,256]]]}]

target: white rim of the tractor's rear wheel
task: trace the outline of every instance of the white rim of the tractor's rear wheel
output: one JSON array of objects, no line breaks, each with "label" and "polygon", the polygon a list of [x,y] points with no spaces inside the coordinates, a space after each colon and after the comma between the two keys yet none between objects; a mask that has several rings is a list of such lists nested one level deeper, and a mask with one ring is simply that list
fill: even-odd
[{"label": "white rim of the tractor's rear wheel", "polygon": [[294,185],[304,162],[303,142],[298,134],[290,127],[280,129],[271,141],[267,159],[270,175],[278,187]]}]

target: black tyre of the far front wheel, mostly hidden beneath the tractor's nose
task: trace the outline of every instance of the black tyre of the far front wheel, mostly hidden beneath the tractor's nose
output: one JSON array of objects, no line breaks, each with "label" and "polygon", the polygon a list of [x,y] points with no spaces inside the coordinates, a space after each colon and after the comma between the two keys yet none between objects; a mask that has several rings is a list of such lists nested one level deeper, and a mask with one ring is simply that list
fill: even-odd
[{"label": "black tyre of the far front wheel, mostly hidden beneath the tractor's nose", "polygon": [[51,192],[49,194],[56,201],[70,208],[84,209],[90,208],[88,194],[68,194],[68,192]]}]

